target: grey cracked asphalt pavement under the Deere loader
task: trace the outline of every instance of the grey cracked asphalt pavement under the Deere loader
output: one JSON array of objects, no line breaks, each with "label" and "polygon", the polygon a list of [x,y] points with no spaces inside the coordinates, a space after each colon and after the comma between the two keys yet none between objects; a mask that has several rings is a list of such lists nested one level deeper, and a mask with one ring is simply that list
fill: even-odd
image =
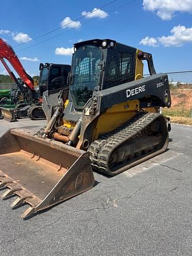
[{"label": "grey cracked asphalt pavement under the Deere loader", "polygon": [[[44,124],[0,120],[0,135]],[[1,199],[0,255],[192,255],[192,126],[169,137],[167,152],[113,178],[94,172],[94,188],[31,219]]]}]

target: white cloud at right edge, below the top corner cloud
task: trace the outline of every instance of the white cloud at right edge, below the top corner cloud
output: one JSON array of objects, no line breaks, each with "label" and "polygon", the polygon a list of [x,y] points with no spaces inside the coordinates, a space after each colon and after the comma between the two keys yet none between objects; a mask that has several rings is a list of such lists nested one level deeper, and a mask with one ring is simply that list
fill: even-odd
[{"label": "white cloud at right edge, below the top corner cloud", "polygon": [[[153,42],[153,43],[152,43]],[[139,44],[146,46],[158,46],[162,44],[164,47],[183,46],[185,43],[192,43],[192,27],[186,28],[184,25],[177,25],[171,30],[171,35],[162,37],[145,37]]]}]

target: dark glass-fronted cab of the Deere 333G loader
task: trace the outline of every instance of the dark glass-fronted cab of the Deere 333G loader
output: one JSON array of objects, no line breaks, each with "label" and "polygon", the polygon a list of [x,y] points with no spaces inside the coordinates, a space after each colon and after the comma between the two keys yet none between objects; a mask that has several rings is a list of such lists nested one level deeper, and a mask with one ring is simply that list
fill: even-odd
[{"label": "dark glass-fronted cab of the Deere 333G loader", "polygon": [[75,110],[82,111],[94,91],[135,80],[136,50],[110,39],[74,44],[69,100]]}]

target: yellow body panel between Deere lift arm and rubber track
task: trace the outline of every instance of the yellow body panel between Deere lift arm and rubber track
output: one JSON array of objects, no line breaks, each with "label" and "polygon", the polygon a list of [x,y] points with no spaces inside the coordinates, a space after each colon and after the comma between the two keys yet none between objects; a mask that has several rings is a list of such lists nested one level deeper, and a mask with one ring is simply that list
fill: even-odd
[{"label": "yellow body panel between Deere lift arm and rubber track", "polygon": [[94,140],[98,135],[116,129],[127,120],[131,119],[139,110],[139,100],[127,101],[113,107],[98,117],[97,124],[93,131]]}]

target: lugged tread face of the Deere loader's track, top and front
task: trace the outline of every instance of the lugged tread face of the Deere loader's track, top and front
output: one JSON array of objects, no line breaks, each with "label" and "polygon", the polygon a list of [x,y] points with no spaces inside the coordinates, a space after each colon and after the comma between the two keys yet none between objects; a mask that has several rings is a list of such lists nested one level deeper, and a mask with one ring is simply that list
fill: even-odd
[{"label": "lugged tread face of the Deere loader's track, top and front", "polygon": [[121,144],[140,133],[151,124],[153,120],[160,116],[162,115],[158,113],[140,112],[112,132],[101,135],[100,138],[92,142],[88,148],[88,151],[91,153],[90,159],[92,167],[97,171],[109,174],[108,159],[111,153]]}]

